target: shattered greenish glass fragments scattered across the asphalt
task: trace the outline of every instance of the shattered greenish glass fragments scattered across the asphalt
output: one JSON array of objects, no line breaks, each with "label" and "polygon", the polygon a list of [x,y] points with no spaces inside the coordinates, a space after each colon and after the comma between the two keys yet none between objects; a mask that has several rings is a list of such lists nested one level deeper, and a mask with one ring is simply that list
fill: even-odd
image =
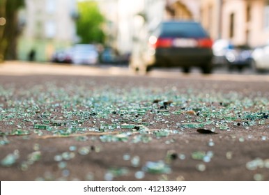
[{"label": "shattered greenish glass fragments scattered across the asphalt", "polygon": [[[72,161],[77,157],[89,157],[91,161],[89,155],[105,152],[102,146],[110,143],[130,147],[130,144],[138,146],[157,141],[164,144],[164,148],[173,146],[174,152],[167,150],[167,154],[160,153],[159,159],[153,160],[123,153],[124,166],[109,165],[102,179],[114,180],[133,174],[137,180],[148,175],[159,175],[163,180],[173,173],[176,162],[183,164],[192,160],[196,171],[208,171],[215,159],[215,139],[228,137],[238,143],[268,141],[268,116],[267,98],[245,97],[236,92],[108,86],[91,90],[83,86],[59,87],[53,83],[28,90],[0,86],[0,149],[12,146],[18,139],[33,141],[29,154],[22,155],[23,148],[11,150],[13,147],[8,153],[1,153],[1,169],[16,166],[18,171],[30,171],[45,160],[56,164],[58,175],[46,171],[43,176],[36,176],[36,180],[95,180],[94,170],[86,172],[84,178],[73,177]],[[252,136],[253,127],[259,129],[260,137]],[[247,137],[236,137],[237,130],[249,133]],[[189,154],[176,150],[176,138],[187,134],[205,139],[208,148],[197,148]],[[50,151],[41,147],[43,139],[72,139],[74,144],[59,153],[57,149]],[[189,141],[186,139],[185,143]],[[233,160],[234,153],[227,150],[223,156]],[[245,169],[268,171],[268,161],[269,157],[249,159]],[[183,176],[175,176],[174,180],[176,178],[184,179]],[[262,171],[253,172],[253,180],[264,179]]]}]

